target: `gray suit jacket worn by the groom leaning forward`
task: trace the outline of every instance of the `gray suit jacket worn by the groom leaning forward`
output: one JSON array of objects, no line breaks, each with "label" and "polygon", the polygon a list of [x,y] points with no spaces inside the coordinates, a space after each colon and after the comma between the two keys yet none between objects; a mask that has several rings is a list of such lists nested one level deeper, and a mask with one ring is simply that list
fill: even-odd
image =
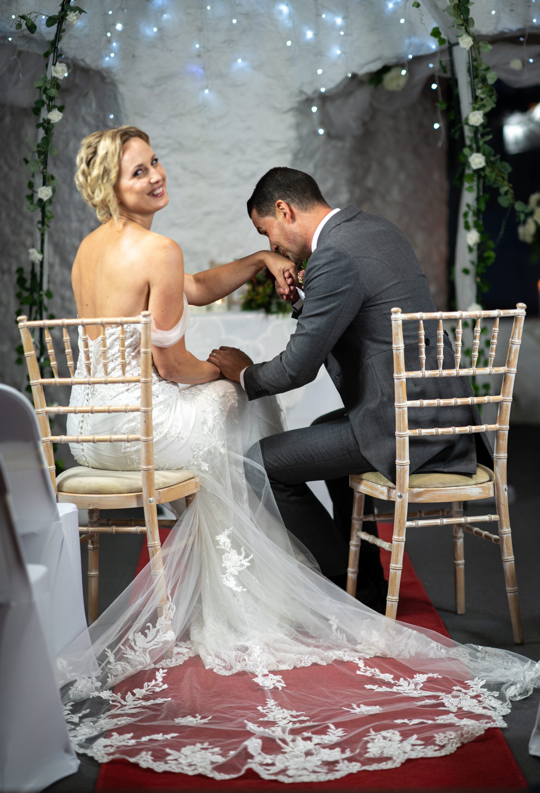
[{"label": "gray suit jacket worn by the groom leaning forward", "polygon": [[[250,400],[315,379],[324,364],[335,384],[363,456],[396,481],[392,324],[390,309],[435,311],[426,279],[408,239],[389,220],[347,206],[327,221],[304,277],[304,306],[285,351],[249,366]],[[424,324],[426,368],[437,369],[436,321]],[[404,323],[405,366],[419,370],[418,324]],[[444,368],[454,368],[445,335]],[[466,377],[407,381],[408,399],[470,397]],[[409,427],[481,423],[476,406],[409,408]],[[474,473],[471,435],[411,438],[411,471]],[[321,450],[324,454],[324,450]]]}]

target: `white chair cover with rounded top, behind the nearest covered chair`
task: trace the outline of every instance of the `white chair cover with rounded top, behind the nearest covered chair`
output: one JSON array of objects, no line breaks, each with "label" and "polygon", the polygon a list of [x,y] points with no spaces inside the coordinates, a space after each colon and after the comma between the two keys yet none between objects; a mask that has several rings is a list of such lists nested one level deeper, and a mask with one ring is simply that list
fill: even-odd
[{"label": "white chair cover with rounded top, behind the nearest covered chair", "polygon": [[0,459],[23,557],[26,564],[48,568],[53,617],[48,641],[56,656],[86,632],[79,513],[75,504],[56,504],[29,400],[0,385],[0,416]]}]

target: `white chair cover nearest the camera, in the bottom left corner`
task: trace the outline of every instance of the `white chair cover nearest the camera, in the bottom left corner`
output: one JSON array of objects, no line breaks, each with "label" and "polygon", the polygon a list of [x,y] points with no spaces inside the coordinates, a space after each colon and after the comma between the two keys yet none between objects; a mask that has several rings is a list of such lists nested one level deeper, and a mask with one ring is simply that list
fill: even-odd
[{"label": "white chair cover nearest the camera, in the bottom left corner", "polygon": [[[44,636],[47,569],[25,565],[6,479],[0,462],[0,791],[26,793],[75,773],[79,760],[67,737]],[[41,614],[38,592],[44,597]]]}]

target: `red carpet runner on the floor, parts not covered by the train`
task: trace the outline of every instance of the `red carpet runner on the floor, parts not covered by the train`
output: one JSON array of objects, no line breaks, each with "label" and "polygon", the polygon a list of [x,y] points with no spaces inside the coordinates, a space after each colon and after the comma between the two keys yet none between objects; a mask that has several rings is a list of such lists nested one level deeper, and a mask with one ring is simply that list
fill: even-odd
[{"label": "red carpet runner on the floor, parts not covered by the train", "polygon": [[[387,542],[392,539],[392,525],[379,524],[379,534]],[[162,542],[167,531],[162,533]],[[381,552],[381,559],[388,577],[390,554]],[[140,554],[136,572],[148,562],[146,546]],[[398,619],[404,623],[419,625],[439,634],[448,632],[431,600],[427,597],[422,582],[415,573],[408,554],[405,552],[404,568],[400,586]],[[341,780],[312,783],[267,782],[252,771],[235,780],[211,780],[206,776],[157,773],[128,763],[111,760],[101,765],[96,791],[212,791],[212,793],[254,793],[254,791],[439,791],[439,790],[523,790],[527,780],[519,770],[514,756],[500,730],[487,730],[475,741],[465,744],[454,754],[446,757],[409,760],[400,768],[388,771],[361,771]]]}]

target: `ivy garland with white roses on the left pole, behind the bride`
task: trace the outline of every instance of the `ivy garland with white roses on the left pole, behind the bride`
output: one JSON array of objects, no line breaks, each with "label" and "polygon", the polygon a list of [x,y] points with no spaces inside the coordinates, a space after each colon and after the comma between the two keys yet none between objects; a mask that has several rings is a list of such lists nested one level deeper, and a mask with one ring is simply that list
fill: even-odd
[{"label": "ivy garland with white roses on the left pole, behind the bride", "polygon": [[[48,41],[47,49],[44,52],[45,72],[39,80],[34,82],[34,88],[39,91],[39,98],[33,105],[33,114],[39,117],[36,129],[40,131],[39,140],[33,144],[31,159],[25,158],[25,164],[32,177],[28,182],[29,193],[26,195],[26,206],[32,213],[39,213],[36,227],[39,232],[39,247],[29,248],[29,259],[31,262],[30,272],[27,274],[23,267],[17,267],[17,300],[19,307],[16,316],[25,313],[29,320],[42,320],[48,314],[46,301],[52,298],[50,289],[44,289],[44,258],[45,258],[45,237],[47,230],[53,219],[52,201],[56,192],[58,180],[48,169],[49,156],[54,157],[58,152],[52,143],[55,125],[63,117],[64,106],[58,104],[59,89],[61,81],[66,75],[66,67],[63,63],[58,63],[62,57],[59,52],[59,44],[66,30],[66,24],[76,25],[79,17],[85,10],[79,6],[71,6],[71,0],[60,2],[59,12],[46,16],[45,25],[48,28],[56,28],[55,35]],[[17,16],[15,29],[21,30],[23,25],[32,35],[36,33],[36,19],[40,13],[22,13]],[[36,175],[34,175],[36,174]],[[49,319],[53,319],[52,314],[48,314]],[[18,358],[17,364],[22,364],[23,349],[21,346],[16,348]],[[45,357],[45,346],[43,334],[39,340],[39,364],[40,370],[44,370],[49,365],[48,358]]]}]

